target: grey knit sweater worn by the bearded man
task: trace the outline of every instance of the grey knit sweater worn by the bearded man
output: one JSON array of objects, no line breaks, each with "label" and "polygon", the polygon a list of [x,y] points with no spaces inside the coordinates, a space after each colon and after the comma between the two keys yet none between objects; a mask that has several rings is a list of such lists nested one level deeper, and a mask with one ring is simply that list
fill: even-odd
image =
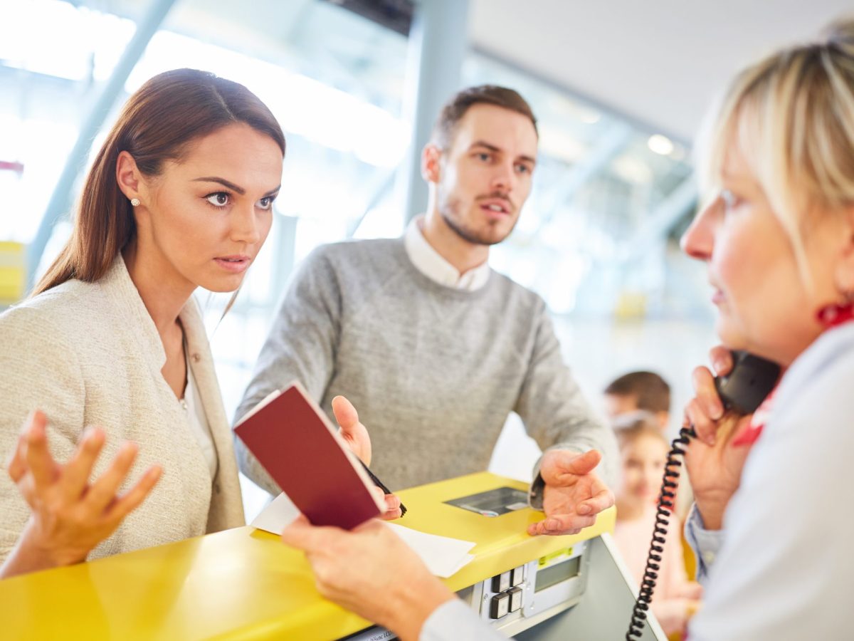
[{"label": "grey knit sweater worn by the bearded man", "polygon": [[[294,379],[330,416],[336,395],[354,403],[392,489],[485,470],[510,412],[543,450],[596,448],[600,475],[616,470],[611,430],[564,365],[542,299],[496,272],[477,291],[438,285],[402,238],[325,245],[302,262],[236,419]],[[237,459],[278,493],[239,439]]]}]

